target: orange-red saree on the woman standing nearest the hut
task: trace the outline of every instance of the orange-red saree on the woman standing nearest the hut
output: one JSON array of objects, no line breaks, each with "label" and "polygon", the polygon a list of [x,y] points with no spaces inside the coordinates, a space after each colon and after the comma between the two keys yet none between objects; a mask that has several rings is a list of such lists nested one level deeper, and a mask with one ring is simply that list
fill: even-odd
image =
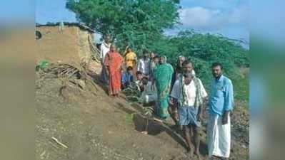
[{"label": "orange-red saree on the woman standing nearest the hut", "polygon": [[109,72],[109,95],[116,95],[121,91],[121,65],[123,58],[117,52],[109,52],[104,59],[104,65]]}]

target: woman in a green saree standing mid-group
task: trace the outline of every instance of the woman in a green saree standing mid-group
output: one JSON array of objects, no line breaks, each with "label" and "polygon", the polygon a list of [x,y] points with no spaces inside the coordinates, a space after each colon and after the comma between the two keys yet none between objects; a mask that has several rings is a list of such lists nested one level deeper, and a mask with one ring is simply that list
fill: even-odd
[{"label": "woman in a green saree standing mid-group", "polygon": [[166,63],[166,56],[160,57],[159,65],[156,66],[154,70],[154,82],[157,90],[158,106],[156,114],[159,115],[161,119],[166,119],[169,117],[168,107],[169,107],[169,92],[171,88],[171,80],[174,69],[169,63]]}]

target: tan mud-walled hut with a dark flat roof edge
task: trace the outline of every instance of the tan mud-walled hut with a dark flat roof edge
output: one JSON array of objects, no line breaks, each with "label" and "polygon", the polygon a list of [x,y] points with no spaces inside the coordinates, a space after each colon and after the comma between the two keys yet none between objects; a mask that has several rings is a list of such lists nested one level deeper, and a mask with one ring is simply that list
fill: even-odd
[{"label": "tan mud-walled hut with a dark flat roof edge", "polygon": [[36,24],[36,60],[79,67],[96,58],[94,31],[81,23]]}]

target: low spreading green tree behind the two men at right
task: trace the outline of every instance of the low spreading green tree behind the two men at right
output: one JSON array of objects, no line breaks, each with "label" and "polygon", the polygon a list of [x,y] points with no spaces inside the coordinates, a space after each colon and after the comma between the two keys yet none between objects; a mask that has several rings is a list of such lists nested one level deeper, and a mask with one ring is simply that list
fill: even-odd
[{"label": "low spreading green tree behind the two men at right", "polygon": [[[239,67],[249,66],[249,50],[241,46],[241,42],[230,40],[221,35],[202,34],[196,31],[182,31],[177,36],[169,38],[172,50],[166,52],[171,58],[170,63],[175,65],[179,55],[184,55],[194,63],[196,74],[206,87],[211,81],[211,64],[220,62],[230,78],[239,78]],[[176,52],[173,52],[176,50]]]}]

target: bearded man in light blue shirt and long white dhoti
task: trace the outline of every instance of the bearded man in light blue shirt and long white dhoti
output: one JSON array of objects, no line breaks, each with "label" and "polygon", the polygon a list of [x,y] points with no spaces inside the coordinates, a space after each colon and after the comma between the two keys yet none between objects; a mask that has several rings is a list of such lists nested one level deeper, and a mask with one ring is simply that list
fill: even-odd
[{"label": "bearded man in light blue shirt and long white dhoti", "polygon": [[230,112],[234,105],[234,91],[231,80],[222,75],[222,70],[220,63],[213,63],[214,80],[209,97],[207,143],[210,158],[215,156],[228,159],[231,150]]}]

